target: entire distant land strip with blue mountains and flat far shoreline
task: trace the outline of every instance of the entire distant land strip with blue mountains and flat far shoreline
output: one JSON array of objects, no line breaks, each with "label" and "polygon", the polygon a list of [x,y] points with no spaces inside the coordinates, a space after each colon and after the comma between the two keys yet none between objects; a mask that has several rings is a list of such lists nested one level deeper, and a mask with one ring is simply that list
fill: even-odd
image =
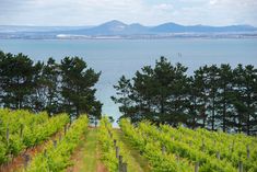
[{"label": "entire distant land strip with blue mountains and flat far shoreline", "polygon": [[[160,37],[257,37],[250,25],[180,25],[164,23],[144,26],[109,21],[97,26],[1,26],[0,38],[160,38]],[[229,36],[227,36],[229,35]]]}]

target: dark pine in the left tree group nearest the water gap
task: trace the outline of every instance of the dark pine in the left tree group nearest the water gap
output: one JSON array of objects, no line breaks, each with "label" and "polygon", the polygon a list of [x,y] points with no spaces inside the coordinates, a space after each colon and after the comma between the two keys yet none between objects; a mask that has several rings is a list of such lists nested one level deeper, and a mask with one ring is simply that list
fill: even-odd
[{"label": "dark pine in the left tree group nearest the water gap", "polygon": [[93,87],[98,81],[101,72],[96,73],[92,68],[87,68],[86,62],[79,57],[63,58],[60,69],[61,95],[66,112],[75,116],[87,113],[100,118],[102,104],[96,101],[96,90]]}]

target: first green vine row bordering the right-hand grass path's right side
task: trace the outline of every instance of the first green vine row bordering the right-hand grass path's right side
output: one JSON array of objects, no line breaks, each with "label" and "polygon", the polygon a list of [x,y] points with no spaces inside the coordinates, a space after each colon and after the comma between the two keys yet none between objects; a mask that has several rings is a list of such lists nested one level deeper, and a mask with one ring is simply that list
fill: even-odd
[{"label": "first green vine row bordering the right-hand grass path's right side", "polygon": [[144,156],[153,172],[189,172],[194,164],[162,149],[162,142],[148,137],[142,130],[133,127],[127,119],[120,121],[120,127],[131,144]]}]

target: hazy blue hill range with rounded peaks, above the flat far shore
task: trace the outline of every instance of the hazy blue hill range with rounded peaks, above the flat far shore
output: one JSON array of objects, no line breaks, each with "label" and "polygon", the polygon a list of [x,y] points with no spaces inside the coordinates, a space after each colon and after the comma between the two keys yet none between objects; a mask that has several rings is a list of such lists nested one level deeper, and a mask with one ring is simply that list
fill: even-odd
[{"label": "hazy blue hill range with rounded peaks, above the flat far shore", "polygon": [[167,33],[227,33],[227,32],[254,32],[257,27],[250,25],[207,26],[207,25],[179,25],[164,23],[157,26],[143,26],[141,24],[125,24],[119,21],[110,21],[91,28],[66,31],[66,34],[78,35],[137,35],[137,34],[167,34]]}]

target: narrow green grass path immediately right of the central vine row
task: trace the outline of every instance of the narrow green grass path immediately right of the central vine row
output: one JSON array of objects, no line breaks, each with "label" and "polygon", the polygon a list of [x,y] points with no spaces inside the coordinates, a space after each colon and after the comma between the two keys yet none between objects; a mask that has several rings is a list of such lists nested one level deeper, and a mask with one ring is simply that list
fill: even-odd
[{"label": "narrow green grass path immediately right of the central vine row", "polygon": [[116,134],[118,140],[122,141],[124,150],[127,152],[128,172],[150,172],[148,161],[131,146],[122,131],[116,129]]}]

